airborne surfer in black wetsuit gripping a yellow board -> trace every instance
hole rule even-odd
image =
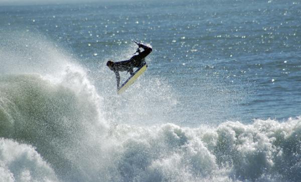
[[[114,73],[116,75],[117,90],[120,88],[119,87],[119,82],[120,82],[119,71],[128,71],[130,76],[133,76],[134,75],[133,68],[137,67],[139,69],[140,67],[142,67],[145,64],[144,58],[153,50],[151,47],[143,45],[142,43],[138,43],[136,41],[134,41],[134,42],[138,45],[137,51],[135,52],[135,53],[138,52],[138,54],[132,56],[128,60],[122,60],[122,61],[118,61],[118,62],[113,62],[112,60],[109,60],[106,63],[106,65],[112,71],[114,71]],[[143,48],[143,51],[140,51],[140,48]]]

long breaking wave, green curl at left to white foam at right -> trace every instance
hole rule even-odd
[[[300,118],[104,129],[98,105],[81,96],[89,94],[85,89],[35,74],[1,82],[11,85],[1,87],[2,137],[36,147],[62,181],[296,181],[300,175]]]

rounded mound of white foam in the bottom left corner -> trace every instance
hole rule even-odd
[[[35,148],[0,138],[0,181],[58,181],[54,170]]]

